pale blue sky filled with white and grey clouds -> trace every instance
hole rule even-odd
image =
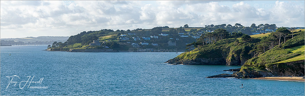
[[[304,27],[305,1],[0,1],[0,38],[240,23]]]

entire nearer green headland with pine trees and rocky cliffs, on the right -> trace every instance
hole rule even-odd
[[[192,43],[192,46],[197,46],[192,50],[193,53],[192,51],[181,53],[167,62],[242,65],[240,72],[214,77],[302,76],[304,75],[305,58],[304,35],[304,31],[299,30],[293,33],[292,39],[289,30],[279,28],[274,33],[256,36],[234,37],[230,35],[222,40],[215,37],[214,43],[203,42],[211,37],[202,36],[197,42]],[[215,36],[218,36],[217,33]],[[279,40],[281,40],[280,43]]]

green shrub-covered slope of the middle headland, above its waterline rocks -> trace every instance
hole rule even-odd
[[[235,42],[235,40],[236,38],[223,39],[215,44],[200,47],[200,51],[196,48],[193,53],[192,51],[181,53],[176,58],[180,60],[192,60],[195,58],[224,58],[228,60],[234,60],[235,57],[251,58],[248,56],[248,52],[253,44],[242,40]]]

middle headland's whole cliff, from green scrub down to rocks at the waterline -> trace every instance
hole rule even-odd
[[[236,43],[236,39],[227,39],[217,42],[216,46],[206,46],[192,52],[185,52],[168,60],[166,63],[177,64],[204,64],[204,65],[243,65],[252,58],[248,54],[253,45],[247,42]],[[235,41],[235,42],[234,42]],[[224,43],[225,42],[225,43]]]

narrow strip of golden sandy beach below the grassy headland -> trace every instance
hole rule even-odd
[[[253,79],[279,80],[279,81],[305,81],[302,77],[259,77]]]

